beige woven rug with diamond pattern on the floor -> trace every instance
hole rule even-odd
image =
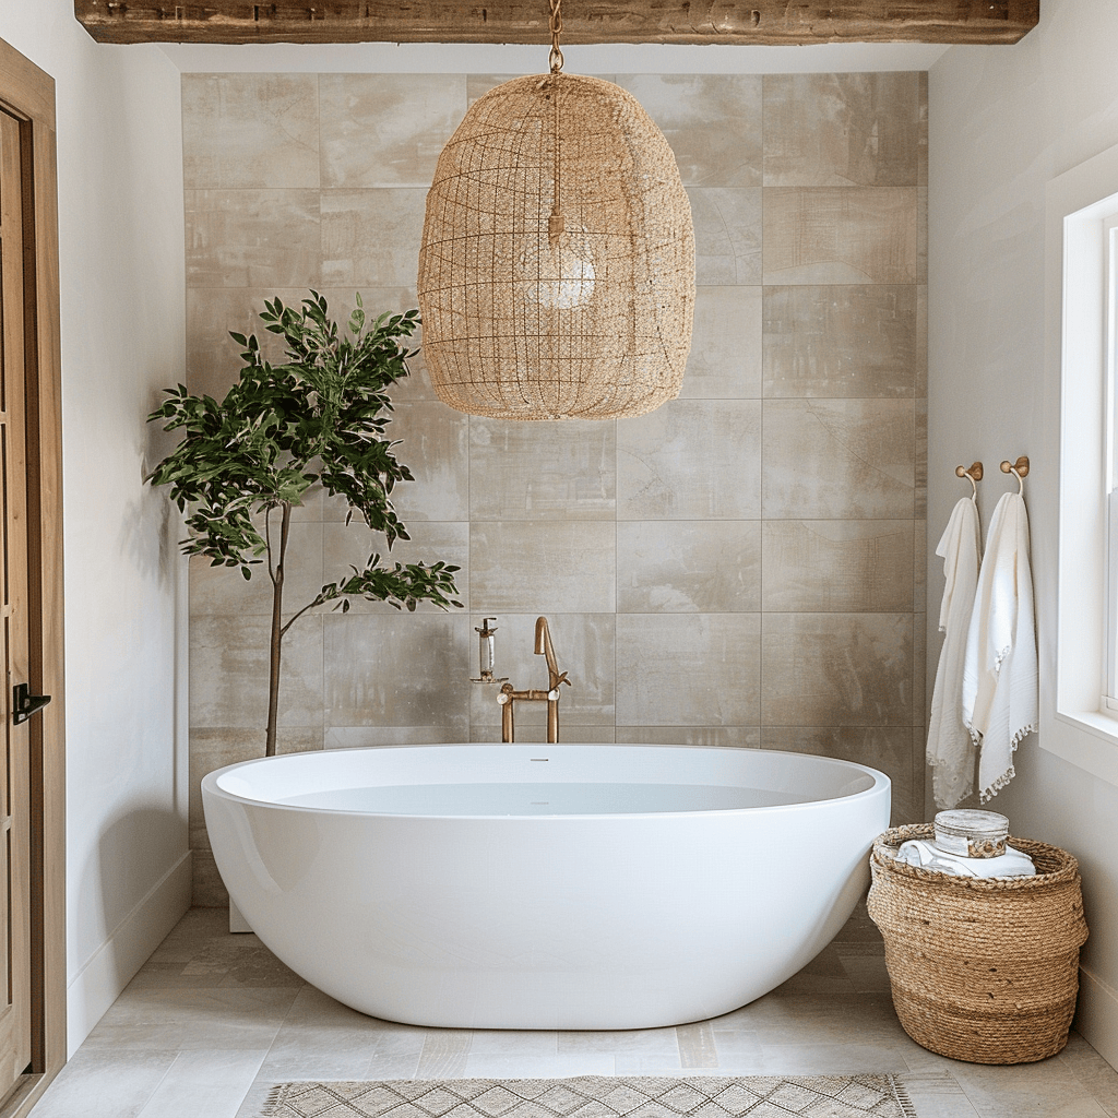
[[[917,1118],[892,1076],[280,1083],[262,1118]]]

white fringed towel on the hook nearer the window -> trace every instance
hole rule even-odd
[[[985,804],[1013,778],[1013,751],[1038,721],[1029,515],[1020,493],[997,502],[986,537],[963,665],[963,720],[982,750]]]

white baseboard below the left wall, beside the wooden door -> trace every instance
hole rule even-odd
[[[189,850],[121,921],[69,983],[66,989],[67,1059],[77,1051],[188,908]]]

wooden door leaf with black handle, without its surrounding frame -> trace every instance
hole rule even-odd
[[[0,110],[0,1099],[31,1062],[30,731],[12,719],[29,669],[26,278],[20,122]]]

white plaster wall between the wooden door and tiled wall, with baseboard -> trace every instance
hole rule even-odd
[[[183,568],[143,484],[183,378],[179,73],[69,0],[3,0],[0,37],[57,95],[73,1051],[189,903]]]

